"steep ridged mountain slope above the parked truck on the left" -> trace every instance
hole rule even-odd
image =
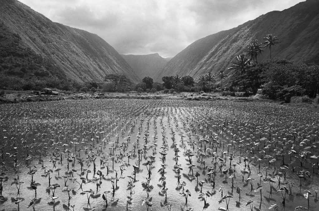
[[[105,40],[54,23],[16,0],[0,4],[0,72],[21,77],[103,81],[105,74],[140,78]]]

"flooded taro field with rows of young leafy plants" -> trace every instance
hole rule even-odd
[[[318,113],[112,99],[0,115],[0,210],[318,210]]]

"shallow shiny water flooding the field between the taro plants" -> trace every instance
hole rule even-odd
[[[71,189],[70,205],[75,205],[74,210],[102,210],[105,208],[105,202],[102,199],[102,194],[104,191],[110,191],[107,194],[108,207],[107,210],[147,210],[145,204],[142,205],[143,200],[147,199],[147,192],[142,186],[142,182],[146,182],[148,178],[148,172],[146,166],[142,165],[147,160],[151,160],[150,156],[153,154],[152,149],[148,149],[146,156],[143,156],[140,161],[140,171],[136,174],[136,180],[134,181],[135,187],[133,187],[134,194],[132,194],[131,204],[127,206],[127,196],[130,195],[130,190],[128,190],[127,185],[130,181],[128,176],[132,176],[134,172],[133,165],[136,164],[138,160],[137,149],[144,149],[143,144],[145,141],[145,133],[149,133],[148,145],[154,141],[152,136],[157,133],[158,146],[154,150],[155,162],[152,164],[150,185],[153,189],[149,192],[149,198],[152,197],[152,210],[162,210],[167,209],[165,203],[171,203],[171,210],[187,210],[187,208],[194,207],[194,210],[203,210],[204,201],[200,200],[200,187],[197,186],[197,178],[189,173],[189,161],[188,156],[184,154],[187,149],[193,151],[191,145],[191,140],[195,140],[197,145],[194,147],[194,153],[199,151],[204,152],[204,145],[198,142],[198,137],[205,137],[205,135],[211,136],[209,139],[217,139],[218,144],[217,155],[222,158],[222,152],[227,152],[227,144],[229,146],[229,151],[225,154],[226,165],[222,167],[227,169],[230,167],[230,162],[228,158],[233,154],[232,164],[236,164],[236,171],[232,174],[234,175],[234,186],[239,186],[241,190],[241,199],[239,201],[239,195],[236,193],[236,188],[231,188],[232,179],[228,178],[231,174],[228,172],[225,175],[219,172],[219,167],[214,166],[215,159],[212,155],[209,155],[206,150],[205,166],[214,166],[217,171],[215,177],[215,188],[211,186],[211,179],[208,178],[208,169],[204,169],[204,165],[197,161],[198,156],[192,158],[193,164],[196,166],[193,169],[194,175],[198,171],[200,176],[199,181],[206,181],[203,185],[202,192],[205,193],[209,191],[210,197],[207,198],[206,206],[207,210],[216,210],[219,207],[226,208],[226,200],[221,201],[221,192],[219,192],[220,186],[223,186],[223,195],[230,194],[234,198],[230,198],[229,210],[250,210],[249,205],[246,206],[248,200],[253,200],[253,210],[268,210],[270,204],[277,204],[279,207],[277,210],[293,210],[297,206],[308,207],[307,199],[304,198],[303,194],[306,193],[305,190],[308,189],[311,193],[315,194],[315,190],[318,190],[318,170],[315,169],[315,174],[313,173],[311,163],[316,163],[316,160],[309,158],[307,162],[303,164],[301,170],[309,171],[311,173],[310,178],[302,179],[302,186],[297,186],[300,183],[299,178],[296,176],[296,172],[300,169],[295,169],[292,172],[292,166],[300,166],[300,162],[297,158],[293,157],[290,161],[290,155],[288,151],[291,148],[290,144],[286,144],[283,149],[287,153],[284,156],[285,164],[288,166],[286,168],[286,181],[294,182],[295,186],[292,190],[292,195],[286,193],[286,203],[285,207],[282,204],[281,193],[277,193],[279,189],[278,182],[273,184],[272,193],[270,194],[269,182],[264,183],[266,171],[263,170],[264,167],[269,166],[267,170],[268,176],[271,176],[273,180],[278,181],[276,176],[273,176],[274,167],[273,164],[268,164],[267,159],[263,159],[260,163],[260,171],[263,174],[261,179],[262,188],[262,200],[260,199],[260,192],[254,192],[256,187],[259,185],[258,172],[258,161],[254,161],[254,156],[261,157],[259,151],[263,148],[263,142],[259,145],[259,149],[255,149],[254,153],[247,152],[251,145],[242,147],[242,151],[237,147],[240,143],[242,144],[250,142],[259,142],[258,140],[265,137],[267,140],[272,140],[276,137],[276,140],[282,141],[283,138],[287,138],[287,141],[294,138],[289,136],[289,131],[296,131],[301,134],[312,134],[310,136],[310,142],[307,142],[303,146],[314,145],[318,141],[317,130],[317,119],[318,113],[307,114],[302,110],[295,110],[286,106],[267,104],[267,103],[246,103],[246,102],[189,102],[189,101],[168,101],[168,100],[82,100],[82,101],[64,101],[64,102],[42,102],[42,103],[25,103],[25,104],[15,104],[15,105],[0,105],[1,109],[1,124],[2,130],[0,131],[0,137],[6,137],[1,139],[1,144],[4,145],[3,152],[10,153],[10,155],[18,152],[16,156],[17,164],[20,164],[19,171],[19,181],[24,182],[20,186],[20,197],[24,200],[20,202],[21,210],[32,210],[32,207],[26,208],[30,201],[35,197],[35,192],[31,186],[31,175],[27,174],[30,170],[27,166],[31,166],[33,169],[35,166],[38,170],[34,176],[33,180],[36,183],[40,183],[41,186],[37,186],[37,199],[35,204],[35,210],[53,210],[53,206],[48,204],[52,201],[52,192],[47,190],[48,187],[48,175],[45,175],[42,166],[48,166],[53,172],[50,173],[52,177],[50,184],[59,184],[60,187],[56,189],[55,196],[59,197],[56,201],[60,201],[56,205],[56,210],[68,210],[68,193],[62,192],[64,187],[64,178],[62,175],[69,174],[67,172],[67,160],[66,156],[68,152],[64,152],[63,161],[56,162],[56,168],[61,168],[58,177],[58,172],[54,171],[56,168],[51,162],[51,158],[55,157],[53,152],[63,152],[66,143],[67,149],[71,152],[75,152],[75,145],[71,142],[84,142],[83,147],[81,144],[77,145],[77,150],[80,150],[80,156],[77,156],[75,163],[70,163],[70,169],[75,168],[77,172],[73,173],[74,177],[77,177],[78,181],[80,177],[85,177],[85,175],[80,174],[81,167],[77,164],[79,157],[83,157],[86,160],[88,155],[95,155],[96,159],[96,171],[101,170],[104,174],[104,179],[102,178],[101,185],[96,191],[96,185],[94,182],[90,181],[93,178],[93,162],[88,160],[85,163],[83,169],[91,170],[88,174],[88,179],[86,184],[83,184],[83,191],[92,189],[94,194],[90,198],[90,205],[87,204],[86,194],[80,194],[82,192],[79,189],[78,183],[72,183],[72,181],[67,181],[67,186]],[[291,115],[291,114],[294,115]],[[224,123],[226,122],[226,123]],[[314,124],[313,124],[314,123]],[[149,125],[149,126],[148,126]],[[224,126],[223,126],[224,125]],[[147,130],[148,128],[148,130]],[[208,129],[207,129],[208,128]],[[252,129],[254,128],[254,129]],[[258,130],[259,133],[256,132]],[[99,132],[98,132],[99,131]],[[101,133],[103,131],[103,133]],[[140,132],[139,132],[140,131]],[[220,133],[220,131],[222,131]],[[302,132],[303,131],[303,132]],[[127,156],[120,156],[120,151],[118,150],[123,142],[128,139],[129,132],[131,134],[130,141],[128,142],[128,148],[121,151],[126,154],[132,151],[132,157],[128,162]],[[185,190],[189,189],[191,196],[188,197],[188,203],[185,205],[185,198],[180,194],[182,186],[178,186],[177,177],[174,169],[174,147],[173,145],[173,133],[175,142],[177,143],[177,148],[180,149],[178,152],[179,160],[178,164],[181,164],[181,182],[186,182]],[[274,135],[277,133],[277,135]],[[93,135],[94,134],[94,135]],[[137,136],[138,134],[139,137]],[[269,137],[271,134],[271,138]],[[108,149],[111,142],[117,140],[116,135],[118,135],[118,146],[115,151],[115,163],[114,168],[112,168],[112,160],[108,157],[110,156],[110,150]],[[182,135],[183,142],[182,144]],[[236,138],[233,135],[238,135]],[[100,136],[97,138],[96,136]],[[165,136],[165,138],[163,138]],[[293,144],[297,146],[294,148],[299,153],[299,141],[297,141],[297,135],[295,137]],[[104,142],[105,141],[105,145]],[[133,143],[138,140],[138,145],[136,152],[134,153]],[[163,142],[163,140],[165,142]],[[236,141],[235,141],[236,140]],[[299,138],[300,140],[300,138]],[[313,141],[312,141],[313,140]],[[25,141],[25,142],[24,142]],[[234,142],[232,142],[234,141]],[[24,142],[24,143],[22,143]],[[90,145],[90,143],[92,145]],[[224,144],[223,144],[224,143]],[[100,145],[101,144],[101,145]],[[166,187],[167,189],[167,201],[165,201],[165,196],[160,195],[162,187],[159,185],[161,182],[159,178],[161,174],[158,170],[161,168],[162,160],[159,152],[162,150],[160,147],[162,145],[167,145],[168,150],[166,155],[165,164],[165,177],[166,177]],[[100,145],[100,147],[99,147]],[[23,147],[24,146],[24,147]],[[28,147],[26,147],[28,146]],[[17,149],[14,149],[17,147]],[[45,147],[47,149],[45,149]],[[88,149],[86,150],[85,147]],[[90,148],[92,151],[90,152]],[[60,149],[59,151],[56,148]],[[213,148],[209,143],[206,148],[210,148],[211,154],[215,152],[216,149]],[[301,148],[301,149],[303,149]],[[99,152],[98,152],[99,149]],[[269,149],[265,149],[266,154],[273,156],[275,144],[271,144],[270,152]],[[278,146],[277,146],[278,149]],[[31,152],[30,152],[31,151]],[[41,159],[40,159],[41,151]],[[44,151],[46,151],[44,153]],[[103,154],[105,152],[104,162],[109,164],[110,173],[107,175],[106,168],[100,165],[100,159],[103,159]],[[302,150],[301,150],[302,151]],[[310,150],[314,155],[318,155],[318,149],[313,148]],[[27,153],[28,152],[28,153]],[[296,156],[298,156],[298,153]],[[69,153],[71,154],[71,153]],[[17,188],[15,185],[11,185],[14,178],[17,178],[17,168],[14,168],[14,157],[8,155],[5,159],[5,165],[0,172],[5,172],[8,176],[7,180],[3,181],[3,193],[2,195],[6,197],[5,201],[2,201],[1,210],[17,210],[18,205],[11,200],[11,197],[17,196]],[[118,155],[118,159],[116,157]],[[224,156],[225,156],[224,155]],[[26,157],[29,156],[30,160],[26,161]],[[239,157],[240,158],[239,158]],[[251,187],[248,181],[248,174],[244,175],[244,182],[242,182],[241,171],[245,168],[245,163],[243,162],[245,157],[248,157],[249,166],[251,174],[250,178],[256,180],[253,181],[253,191],[251,192]],[[264,155],[263,155],[264,156]],[[58,156],[59,157],[59,156]],[[276,156],[274,156],[276,158]],[[42,161],[43,159],[43,164]],[[224,159],[224,157],[223,157]],[[218,160],[218,158],[217,158]],[[30,163],[29,163],[30,162]],[[120,166],[124,165],[124,170],[120,171]],[[248,163],[247,163],[248,164]],[[282,158],[277,157],[275,161],[276,170],[284,172],[284,169],[280,170],[282,166]],[[292,166],[291,166],[292,165]],[[284,168],[284,167],[283,167]],[[234,166],[232,166],[234,169]],[[246,171],[248,168],[246,167]],[[114,196],[112,195],[112,183],[110,179],[115,177],[116,172],[118,174],[117,187],[115,188]],[[97,175],[94,175],[98,177]],[[134,177],[134,176],[133,176]],[[72,178],[72,177],[70,177]],[[99,178],[99,177],[98,177]],[[280,186],[284,186],[284,178],[281,177]],[[78,190],[79,189],[79,190]],[[236,202],[237,201],[237,202]],[[315,197],[310,197],[309,209],[316,210],[317,200]],[[70,207],[72,210],[72,208]]]

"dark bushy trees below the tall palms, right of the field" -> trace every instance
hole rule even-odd
[[[319,89],[319,66],[285,59],[266,60],[230,78],[230,90],[261,94],[269,99],[290,101],[292,96],[315,98]]]

